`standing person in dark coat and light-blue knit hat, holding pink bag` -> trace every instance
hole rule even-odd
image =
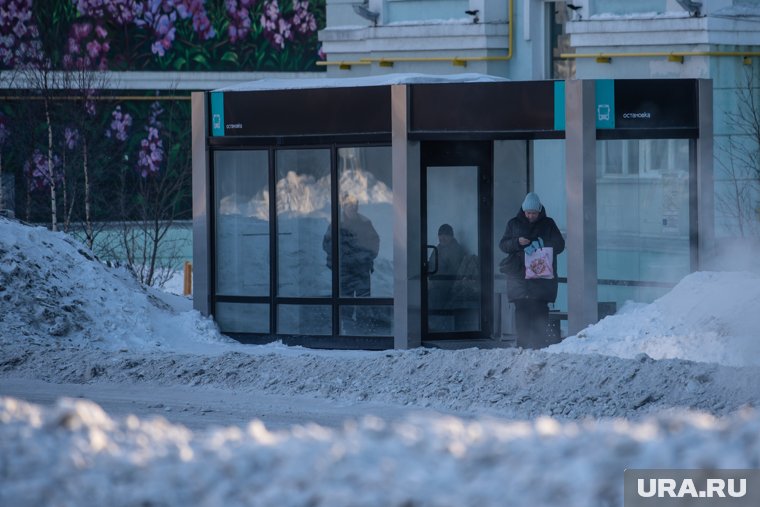
[[[554,249],[551,279],[525,279],[525,253],[543,246]],[[557,299],[557,255],[565,239],[557,224],[546,215],[541,199],[528,193],[517,215],[507,223],[499,248],[507,253],[502,271],[507,275],[507,297],[515,305],[517,346],[538,349],[548,345],[549,303]]]

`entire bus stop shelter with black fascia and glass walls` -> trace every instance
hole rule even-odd
[[[508,344],[498,242],[536,191],[566,238],[553,313],[575,334],[709,254],[711,101],[709,80],[469,74],[194,93],[194,306],[248,343]],[[349,223],[370,238],[364,278]],[[446,269],[444,224],[461,247]]]

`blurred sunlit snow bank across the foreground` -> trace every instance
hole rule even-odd
[[[760,465],[760,419],[559,423],[411,416],[330,430],[193,433],[87,401],[0,398],[0,503],[14,506],[622,505],[626,468]],[[600,445],[601,444],[601,445]]]

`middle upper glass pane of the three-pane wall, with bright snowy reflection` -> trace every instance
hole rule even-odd
[[[329,297],[322,239],[330,219],[330,151],[279,150],[275,165],[278,295]]]

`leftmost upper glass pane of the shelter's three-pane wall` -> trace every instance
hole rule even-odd
[[[216,291],[269,295],[269,191],[266,151],[214,153]]]

